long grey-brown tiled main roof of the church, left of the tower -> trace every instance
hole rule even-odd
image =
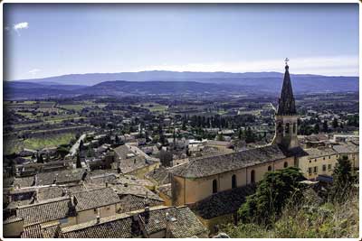
[[[283,153],[278,145],[272,144],[237,153],[227,153],[195,159],[180,165],[173,170],[172,173],[185,178],[202,178],[264,162],[281,160],[286,157],[287,155]]]

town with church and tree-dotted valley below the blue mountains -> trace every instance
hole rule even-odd
[[[268,171],[328,185],[347,156],[357,172],[358,94],[298,96],[291,81],[286,65],[277,101],[5,102],[4,236],[223,236]]]

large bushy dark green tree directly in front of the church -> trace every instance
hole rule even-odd
[[[286,203],[302,198],[300,181],[303,180],[296,167],[266,172],[256,192],[238,210],[239,217],[243,222],[270,224],[281,215]]]

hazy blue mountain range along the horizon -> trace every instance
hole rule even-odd
[[[5,81],[5,98],[182,93],[279,93],[279,72],[141,71],[71,74],[43,79]],[[358,91],[358,77],[291,75],[295,93]]]

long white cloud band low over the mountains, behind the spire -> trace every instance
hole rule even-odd
[[[332,56],[289,58],[290,71],[293,74],[320,74],[329,76],[357,76],[358,56]],[[139,69],[141,70],[141,69]],[[160,64],[146,66],[142,70],[170,70],[170,71],[225,71],[225,72],[259,72],[259,71],[284,71],[284,58],[280,60],[255,60],[255,61],[218,61],[195,62],[186,64]]]

